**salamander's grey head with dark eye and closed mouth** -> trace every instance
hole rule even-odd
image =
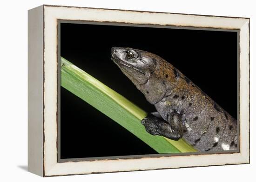
[[[111,59],[137,88],[148,82],[156,67],[156,60],[151,53],[122,47],[112,47]]]

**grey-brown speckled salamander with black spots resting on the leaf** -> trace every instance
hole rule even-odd
[[[113,47],[111,59],[157,112],[141,120],[145,130],[184,138],[199,151],[238,149],[237,122],[172,64],[153,53]]]

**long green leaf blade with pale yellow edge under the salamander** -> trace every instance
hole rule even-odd
[[[113,119],[158,153],[196,151],[184,140],[173,141],[148,134],[140,123],[147,116],[145,111],[62,57],[61,86]]]

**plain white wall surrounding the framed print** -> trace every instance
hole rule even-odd
[[[255,36],[253,0],[6,0],[0,5],[0,181],[252,181],[255,176]],[[27,10],[42,4],[250,18],[251,164],[49,177],[27,170]],[[255,178],[255,177],[254,177]],[[5,179],[5,180],[4,180]],[[255,180],[255,179],[254,179]]]

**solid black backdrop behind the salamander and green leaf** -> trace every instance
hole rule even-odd
[[[155,107],[110,60],[113,46],[161,56],[237,118],[237,32],[61,23],[61,56],[152,112]],[[155,153],[61,87],[61,159]]]

